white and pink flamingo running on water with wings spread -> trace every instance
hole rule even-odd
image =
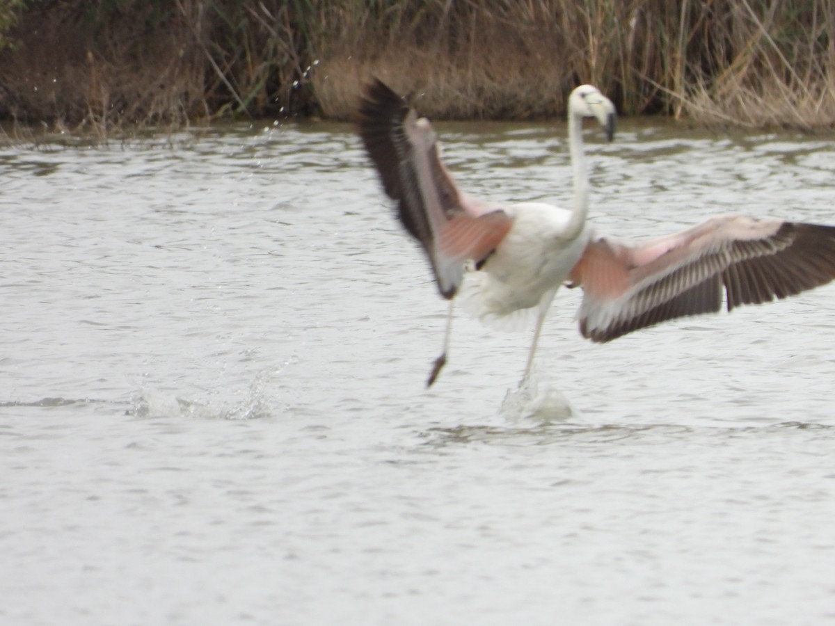
[[[357,121],[362,143],[397,215],[450,300],[443,352],[427,386],[446,363],[453,298],[488,324],[536,317],[522,381],[561,285],[579,286],[579,331],[605,342],[662,321],[797,295],[835,278],[835,227],[743,215],[717,215],[679,233],[647,241],[598,235],[586,222],[589,179],[584,118],[612,139],[615,106],[591,85],[569,96],[571,210],[551,204],[497,204],[463,194],[444,166],[428,119],[375,79],[364,89]]]

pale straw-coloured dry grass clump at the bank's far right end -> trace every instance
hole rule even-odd
[[[723,16],[715,61],[676,93],[704,122],[815,128],[835,124],[835,7],[753,3]]]

